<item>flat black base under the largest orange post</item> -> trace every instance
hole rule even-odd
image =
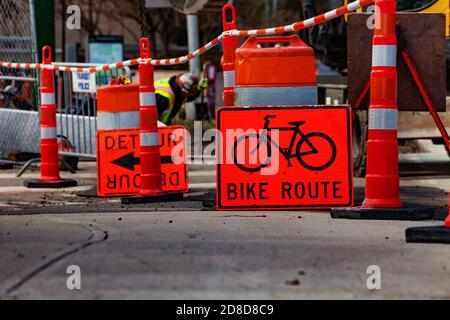
[[[331,217],[334,219],[418,221],[433,219],[434,208],[335,208],[331,209]]]

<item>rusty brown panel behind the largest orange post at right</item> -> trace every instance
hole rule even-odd
[[[368,14],[351,14],[348,19],[349,102],[355,103],[370,78],[373,30]],[[438,111],[446,110],[445,15],[399,13],[399,41],[406,47]],[[428,111],[408,68],[398,54],[398,105],[400,111]],[[369,95],[362,108],[369,105]]]

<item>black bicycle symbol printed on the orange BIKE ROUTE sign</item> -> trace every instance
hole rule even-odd
[[[276,115],[268,115],[264,118],[265,124],[262,130],[262,134],[257,133],[248,133],[245,134],[234,143],[232,152],[233,152],[233,161],[234,164],[245,172],[259,172],[263,168],[269,166],[272,161],[272,148],[275,147],[279,150],[280,154],[288,161],[288,166],[292,167],[291,159],[297,158],[300,165],[304,168],[311,171],[322,171],[329,168],[334,161],[336,160],[336,144],[334,141],[324,133],[321,132],[311,132],[308,134],[303,133],[300,129],[306,121],[294,121],[289,122],[290,127],[280,127],[280,128],[271,128],[270,121],[271,119],[276,118]],[[272,131],[292,131],[291,142],[289,144],[289,148],[282,148],[274,139],[272,139]],[[295,141],[297,137],[300,137],[300,141],[297,143],[297,147],[294,151]],[[244,146],[248,142],[248,146],[256,147],[253,150],[248,150],[248,148],[238,148],[239,145]],[[243,144],[242,144],[243,143]],[[305,146],[307,150],[304,150]],[[261,151],[260,148],[266,148],[265,155],[267,159],[262,161],[258,165],[250,166],[246,163],[241,163],[239,159],[238,152],[245,151],[247,154],[245,155],[253,155],[255,152]],[[244,154],[240,154],[241,156]],[[314,157],[311,157],[315,155]],[[320,164],[314,163],[317,161],[317,158],[321,157]],[[325,158],[324,158],[325,157]],[[246,158],[244,158],[246,159]]]

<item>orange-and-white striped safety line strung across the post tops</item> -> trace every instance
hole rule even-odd
[[[287,32],[296,32],[302,29],[306,29],[318,24],[325,23],[329,20],[341,17],[350,12],[358,10],[360,8],[366,7],[370,4],[374,3],[374,0],[358,0],[352,3],[349,3],[346,6],[339,7],[337,9],[331,10],[314,18],[310,18],[304,21],[295,22],[293,24],[282,26],[282,27],[274,27],[267,29],[254,29],[254,30],[231,30],[223,32],[218,37],[214,38],[212,41],[208,42],[203,47],[195,50],[194,52],[189,53],[186,56],[172,58],[172,59],[132,59],[122,62],[117,62],[108,65],[102,65],[91,68],[77,68],[77,67],[61,67],[53,64],[44,65],[40,63],[14,63],[14,62],[2,62],[0,61],[0,68],[11,68],[11,69],[49,69],[54,71],[63,71],[63,72],[100,72],[107,71],[113,69],[121,69],[127,66],[134,66],[138,64],[148,64],[151,63],[155,66],[161,65],[177,65],[184,64],[189,60],[205,53],[206,51],[217,46],[223,39],[224,35],[231,35],[235,37],[248,37],[248,36],[264,36],[264,35],[274,35],[274,34],[283,34]]]

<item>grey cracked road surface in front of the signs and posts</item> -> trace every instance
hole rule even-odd
[[[446,154],[401,162],[402,198],[435,206],[443,219]],[[77,175],[81,187],[65,191],[25,190],[14,172],[0,172],[1,299],[450,299],[450,246],[405,242],[406,228],[442,221],[216,212],[202,201],[213,196],[211,166],[192,168],[185,201],[138,207],[77,197],[95,181],[90,163]],[[360,201],[363,180],[356,186]],[[71,266],[81,290],[68,289],[78,275]],[[380,290],[367,286],[373,266]]]

